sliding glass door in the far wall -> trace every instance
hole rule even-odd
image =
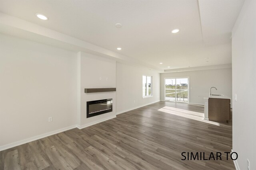
[[[188,103],[189,79],[188,78],[165,78],[165,100]]]

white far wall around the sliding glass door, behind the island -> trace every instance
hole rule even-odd
[[[198,70],[184,72],[161,73],[161,100],[164,100],[164,78],[189,77],[190,103],[204,104],[202,97],[208,96],[211,87],[213,94],[223,94],[232,97],[232,69]],[[231,102],[232,106],[232,102]]]

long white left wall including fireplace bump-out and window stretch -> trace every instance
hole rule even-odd
[[[0,150],[160,100],[157,71],[10,35],[0,43]],[[153,76],[153,97],[142,99],[143,74]],[[84,93],[112,87],[117,92]],[[103,98],[113,98],[113,111],[87,119],[86,102]]]

